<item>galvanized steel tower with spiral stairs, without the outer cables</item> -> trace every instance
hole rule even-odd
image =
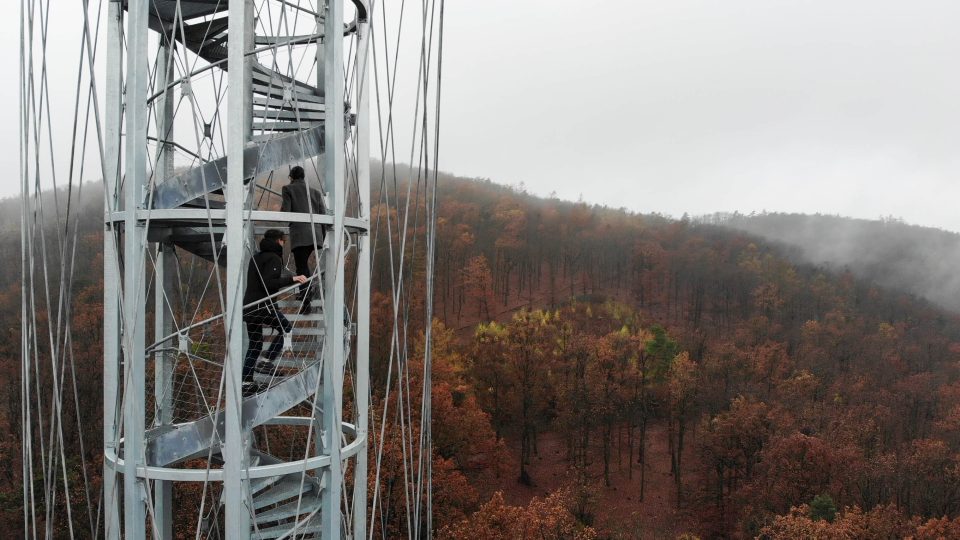
[[[200,493],[204,537],[366,537],[368,11],[108,4],[107,538],[172,537],[181,489]],[[293,165],[328,213],[278,211]],[[291,222],[317,225],[323,244],[313,311],[300,314],[292,287],[276,295],[293,330],[251,391],[248,262],[264,230]]]

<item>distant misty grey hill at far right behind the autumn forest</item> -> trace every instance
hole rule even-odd
[[[960,234],[889,218],[714,214],[725,225],[793,248],[795,260],[854,275],[960,311]]]

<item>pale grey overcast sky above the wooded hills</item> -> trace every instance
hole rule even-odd
[[[447,0],[441,168],[674,216],[960,231],[958,27],[947,0]],[[13,114],[0,130],[16,171]]]

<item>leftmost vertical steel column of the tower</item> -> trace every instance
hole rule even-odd
[[[106,222],[116,209],[120,179],[120,122],[123,110],[120,80],[123,65],[123,9],[119,0],[107,4],[107,77],[104,160],[103,232],[103,450],[118,452],[120,431],[117,424],[117,380],[120,371],[120,298],[119,264],[117,264],[116,228]],[[104,460],[103,527],[106,540],[120,538],[120,494],[117,471]]]

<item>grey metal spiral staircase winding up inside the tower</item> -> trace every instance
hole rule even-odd
[[[152,0],[149,25],[162,36],[175,36],[178,47],[186,47],[205,61],[226,69],[227,5],[226,0]],[[316,39],[317,36],[289,38],[300,42]],[[258,46],[278,42],[277,38],[256,38]],[[319,156],[324,145],[322,92],[272,70],[258,62],[256,56],[253,56],[252,64],[252,128],[255,135],[243,156],[245,183],[253,181],[261,171],[285,168],[303,163],[305,158]],[[190,90],[181,88],[181,91]],[[152,192],[147,194],[148,207],[152,211],[222,209],[226,181],[226,157],[203,162],[159,179]],[[172,244],[225,265],[223,221],[204,219],[197,212],[178,216],[169,212],[165,219],[151,223],[148,239]],[[242,422],[246,432],[270,424],[298,405],[313,404],[315,394],[322,388],[320,351],[325,337],[324,315],[322,305],[315,302],[310,315],[298,314],[299,303],[280,302],[281,309],[293,323],[293,331],[288,337],[290,343],[276,362],[276,372],[258,392],[243,399]],[[345,348],[348,348],[349,323],[345,335]],[[306,356],[312,358],[305,359]],[[222,361],[221,358],[221,369]],[[219,444],[224,440],[225,414],[220,407],[215,410],[217,412],[198,415],[188,421],[148,429],[145,434],[147,464],[174,467],[196,458],[207,458],[210,462],[220,459]],[[319,413],[315,408],[313,410],[316,419]],[[332,439],[339,443],[339,437]],[[280,458],[256,448],[255,443],[252,446],[249,467],[283,463]],[[320,476],[312,473],[305,467],[298,472],[251,479],[248,504],[251,508],[251,538],[279,538],[291,533],[298,538],[309,538],[319,534],[324,486]],[[211,521],[208,530],[215,531],[216,524]]]

